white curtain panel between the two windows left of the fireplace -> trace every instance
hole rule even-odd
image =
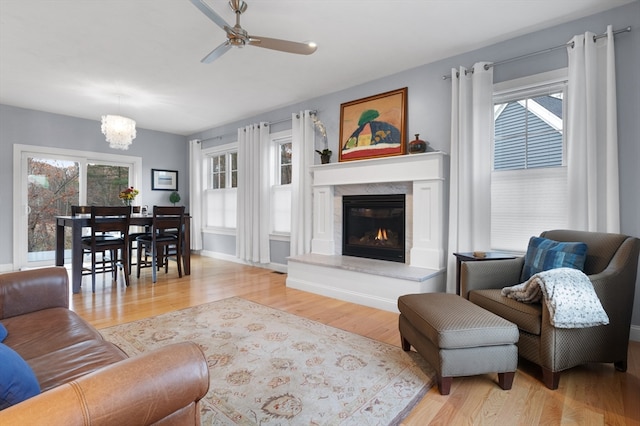
[[[238,129],[236,256],[249,263],[269,263],[270,259],[268,222],[266,227],[263,226],[260,214],[261,211],[269,211],[269,179],[262,178],[265,173],[268,176],[268,135],[266,123]],[[261,205],[264,202],[267,204]]]

